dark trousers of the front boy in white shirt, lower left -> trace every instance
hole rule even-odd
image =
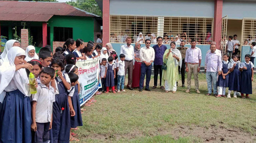
[[[33,132],[33,141],[32,143],[42,143],[49,141],[50,138],[50,122],[47,123],[37,123],[36,122],[36,132]]]

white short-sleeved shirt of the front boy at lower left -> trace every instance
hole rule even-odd
[[[36,122],[47,123],[51,122],[53,102],[55,102],[54,88],[49,85],[46,87],[40,84],[37,87],[37,93],[33,96],[33,101],[36,101]]]

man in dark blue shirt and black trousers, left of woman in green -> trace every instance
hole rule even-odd
[[[165,45],[162,45],[163,38],[157,37],[156,39],[157,45],[153,46],[153,49],[155,51],[155,60],[154,60],[154,86],[152,89],[156,89],[157,86],[157,77],[158,73],[160,73],[160,88],[164,89],[163,86],[161,86],[162,83],[162,64],[163,64],[163,54],[165,53],[165,50],[167,50],[167,47]]]

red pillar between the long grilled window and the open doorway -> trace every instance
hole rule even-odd
[[[213,41],[216,42],[216,48],[217,49],[220,49],[220,42],[221,42],[222,5],[223,5],[223,0],[215,0],[214,24],[213,24]]]

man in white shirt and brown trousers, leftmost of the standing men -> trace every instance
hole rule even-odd
[[[126,44],[121,46],[120,54],[125,55],[125,75],[128,70],[128,83],[127,83],[127,88],[129,90],[133,90],[131,87],[132,85],[132,70],[134,69],[134,49],[133,46],[131,45],[132,39],[131,37],[126,38]]]

